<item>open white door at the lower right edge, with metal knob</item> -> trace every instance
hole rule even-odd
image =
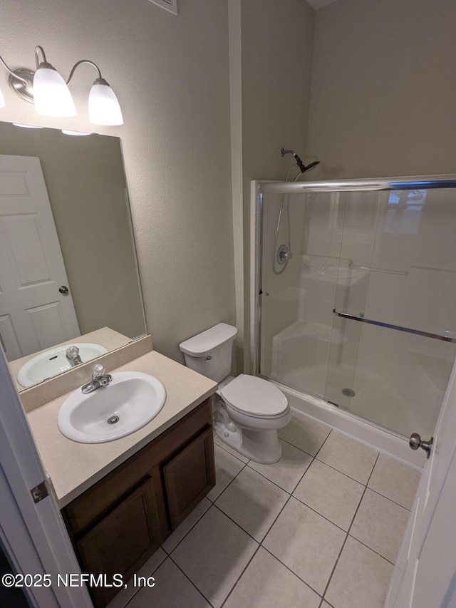
[[[400,547],[386,608],[455,605],[448,603],[456,574],[455,505],[456,364]]]

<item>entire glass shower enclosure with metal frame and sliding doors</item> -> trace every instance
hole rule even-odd
[[[456,176],[257,185],[257,373],[431,436],[456,356]]]

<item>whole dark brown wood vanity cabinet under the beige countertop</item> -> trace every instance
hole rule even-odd
[[[207,399],[63,509],[82,572],[127,582],[214,484]],[[89,587],[97,608],[119,590]]]

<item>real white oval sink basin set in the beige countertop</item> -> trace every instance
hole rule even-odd
[[[165,405],[165,386],[154,376],[130,371],[112,376],[108,386],[88,394],[78,388],[63,401],[57,424],[68,439],[79,443],[120,439],[149,423]]]

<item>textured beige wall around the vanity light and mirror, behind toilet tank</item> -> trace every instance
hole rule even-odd
[[[147,326],[155,348],[234,321],[226,0],[180,0],[179,15],[147,0],[0,0],[1,55],[33,68],[41,44],[68,76],[78,59],[100,65],[123,108],[122,140]],[[95,73],[71,83],[76,118],[45,118],[16,101],[0,68],[0,119],[92,130],[86,98]]]

